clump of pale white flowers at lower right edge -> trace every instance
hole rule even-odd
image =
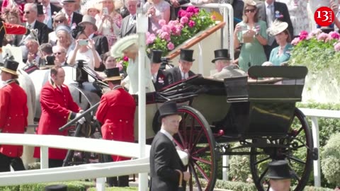
[[[333,134],[321,153],[321,168],[329,183],[340,185],[340,133]]]

